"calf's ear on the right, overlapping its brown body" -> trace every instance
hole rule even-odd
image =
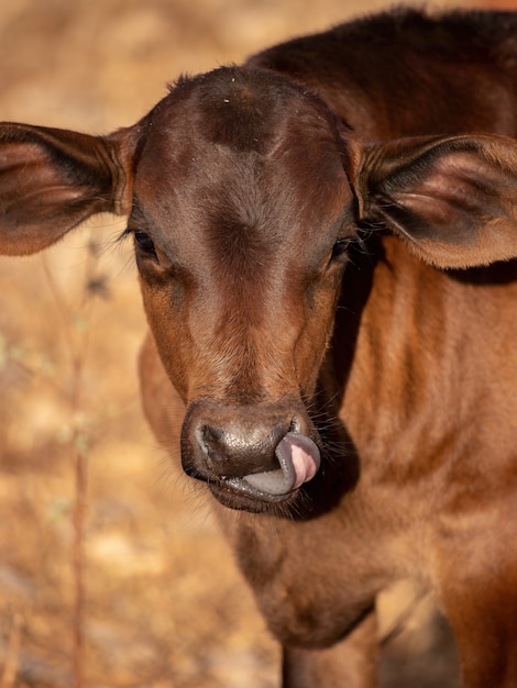
[[[404,138],[363,152],[361,219],[383,222],[442,268],[517,256],[517,141],[495,135]]]

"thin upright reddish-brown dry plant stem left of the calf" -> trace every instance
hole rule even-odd
[[[81,391],[82,374],[88,347],[88,337],[74,332],[72,322],[73,313],[57,286],[53,273],[48,267],[45,256],[42,257],[43,269],[48,287],[53,295],[57,310],[64,322],[64,331],[72,363],[72,389],[69,397],[73,432],[70,439],[72,459],[75,470],[75,499],[73,513],[74,545],[74,610],[73,610],[73,688],[85,687],[85,643],[84,643],[84,617],[85,617],[85,519],[86,495],[88,482],[88,456],[85,445],[85,432],[81,428]],[[86,306],[86,303],[84,304]]]

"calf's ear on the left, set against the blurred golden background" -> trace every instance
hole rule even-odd
[[[35,253],[94,214],[127,213],[129,132],[0,124],[0,254]]]

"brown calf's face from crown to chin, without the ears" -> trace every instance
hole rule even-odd
[[[232,506],[283,501],[319,465],[306,404],[355,231],[337,121],[280,79],[223,70],[152,122],[129,228],[188,407],[184,467]]]

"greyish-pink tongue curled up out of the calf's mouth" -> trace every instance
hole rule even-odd
[[[243,478],[252,487],[268,495],[287,495],[315,477],[319,465],[319,450],[312,440],[288,432],[275,451],[279,468],[256,473]]]

